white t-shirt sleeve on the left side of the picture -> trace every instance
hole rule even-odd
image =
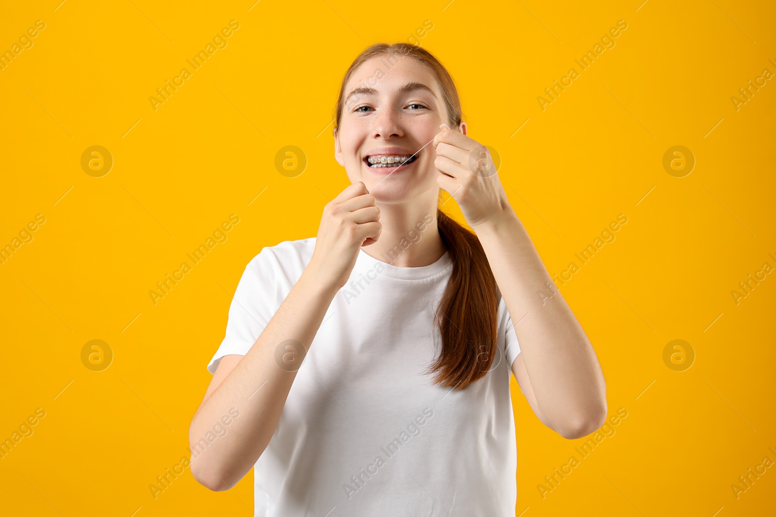
[[[229,307],[226,334],[207,365],[210,373],[216,372],[223,356],[248,353],[277,311],[273,261],[275,256],[264,248],[245,266]]]

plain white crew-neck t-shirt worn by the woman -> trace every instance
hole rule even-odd
[[[310,262],[315,240],[265,247],[248,263],[210,373],[222,356],[248,352]],[[486,376],[457,391],[422,375],[438,354],[432,331],[441,344],[433,320],[451,272],[449,252],[408,268],[359,249],[255,463],[255,515],[514,517],[509,381],[520,348],[504,299]]]

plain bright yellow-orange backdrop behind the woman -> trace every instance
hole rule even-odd
[[[314,236],[347,186],[331,120],[348,64],[414,35],[456,80],[470,136],[501,155],[551,274],[628,217],[561,289],[598,353],[610,415],[628,416],[542,498],[584,440],[543,426],[513,380],[516,515],[772,515],[773,468],[738,498],[731,489],[776,461],[776,279],[738,304],[731,294],[776,267],[776,84],[731,101],[776,73],[772,2],[252,3],[0,6],[0,50],[45,23],[0,71],[0,245],[45,217],[0,265],[0,439],[45,411],[0,459],[5,512],[251,515],[252,474],[220,493],[188,470],[155,499],[148,487],[188,456],[244,266]],[[154,110],[148,98],[232,19],[227,46]],[[537,97],[621,19],[615,47],[542,110]],[[113,157],[99,178],[81,168],[94,145]],[[293,178],[275,168],[286,145],[307,158]],[[675,145],[695,157],[681,178],[663,168]],[[462,220],[455,202],[445,210]],[[227,241],[154,304],[148,291],[232,213]],[[113,351],[106,370],[81,362],[93,339]],[[688,370],[663,361],[674,339],[695,352]]]

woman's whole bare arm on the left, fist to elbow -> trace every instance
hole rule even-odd
[[[327,203],[315,250],[302,278],[294,284],[248,352],[241,355],[231,350],[221,358],[189,427],[190,467],[199,483],[210,490],[232,488],[265,452],[278,429],[300,364],[286,362],[288,354],[280,358],[278,352],[284,346],[289,352],[295,349],[301,354],[298,358],[301,360],[313,346],[332,300],[352,275],[359,248],[379,238],[382,231],[379,217],[375,196],[362,182],[348,186]],[[271,279],[262,277],[261,280],[271,285]],[[254,295],[244,293],[244,296]],[[233,304],[240,305],[237,295]],[[246,400],[251,392],[254,394]],[[233,415],[232,409],[239,411],[240,418],[233,420],[227,435],[208,445],[203,436],[212,434],[213,422],[221,422],[227,411]],[[197,449],[200,450],[195,455]]]

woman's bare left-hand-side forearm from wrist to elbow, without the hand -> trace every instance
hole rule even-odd
[[[304,351],[310,349],[336,292],[305,270],[255,344],[200,406],[189,429],[192,451],[230,408],[240,412],[226,435],[209,443],[196,458],[192,452],[192,474],[200,483],[213,490],[231,488],[264,452],[296,378],[296,368]],[[293,358],[296,367],[284,369],[275,359],[275,350],[285,346],[282,342],[286,340],[299,342],[304,349]],[[282,353],[294,352],[283,349]]]

